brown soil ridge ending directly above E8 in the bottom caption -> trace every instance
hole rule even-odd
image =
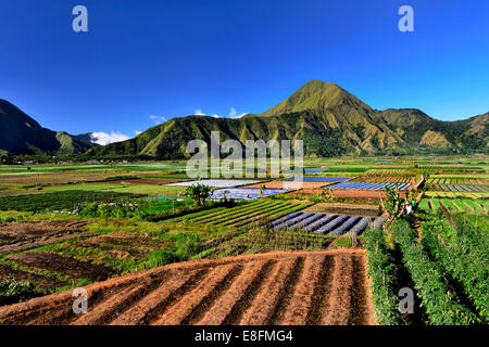
[[[263,282],[261,291],[254,297],[250,308],[242,314],[240,325],[266,324],[274,313],[287,278],[293,271],[298,258],[286,259],[277,264]]]

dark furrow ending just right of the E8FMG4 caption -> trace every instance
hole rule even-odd
[[[314,287],[314,294],[311,299],[311,307],[305,319],[306,325],[318,325],[323,312],[327,307],[327,297],[330,292],[329,283],[333,280],[333,256],[326,255],[321,264],[321,272],[317,285]]]

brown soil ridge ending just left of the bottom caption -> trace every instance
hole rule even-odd
[[[176,301],[153,324],[155,325],[179,325],[206,297],[222,285],[229,273],[236,272],[236,265],[220,266],[209,272],[192,291],[188,292],[180,300]],[[233,275],[231,275],[233,277]]]

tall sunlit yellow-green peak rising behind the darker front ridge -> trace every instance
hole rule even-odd
[[[355,95],[350,94],[336,83],[312,79],[299,88],[289,98],[259,116],[271,117],[284,113],[301,112],[306,110],[321,111],[336,105],[349,104],[369,108]]]

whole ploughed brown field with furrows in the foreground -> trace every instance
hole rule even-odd
[[[363,249],[192,260],[0,307],[0,324],[372,324]]]

